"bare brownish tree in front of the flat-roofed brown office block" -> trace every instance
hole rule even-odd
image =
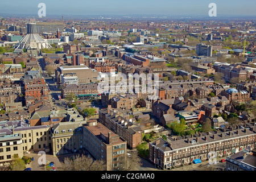
[[[106,164],[102,160],[94,160],[87,155],[76,155],[72,158],[65,158],[61,162],[63,171],[105,171]]]

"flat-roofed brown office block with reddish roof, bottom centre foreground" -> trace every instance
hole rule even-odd
[[[107,171],[115,171],[125,166],[126,141],[96,119],[82,125],[83,143],[86,150],[97,160],[103,160]]]

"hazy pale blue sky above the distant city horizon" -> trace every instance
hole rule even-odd
[[[46,4],[48,15],[205,15],[216,3],[218,15],[256,15],[255,0],[22,0],[1,1],[0,13],[38,14]]]

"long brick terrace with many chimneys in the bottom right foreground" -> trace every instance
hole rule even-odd
[[[208,160],[212,154],[225,156],[250,147],[255,147],[255,124],[250,127],[222,133],[200,133],[183,139],[167,137],[149,143],[148,158],[156,166],[170,169],[193,163],[193,160]]]

